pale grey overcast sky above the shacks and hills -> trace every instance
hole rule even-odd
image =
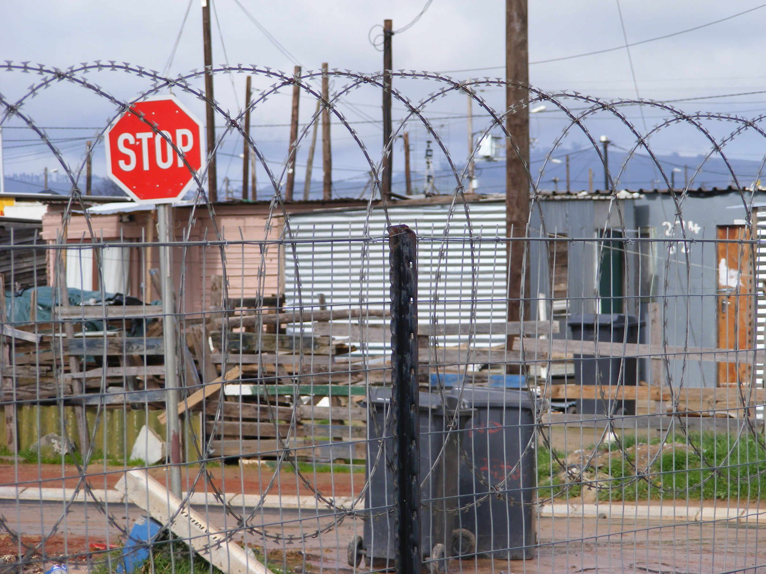
[[[217,64],[226,61],[229,64],[259,64],[280,70],[292,70],[296,62],[302,64],[304,69],[317,69],[322,61],[341,69],[379,70],[381,53],[368,41],[372,26],[380,24],[384,18],[392,18],[394,29],[400,28],[411,21],[424,5],[424,0],[239,2],[290,56],[280,51],[245,15],[237,0],[216,0],[214,61]],[[626,36],[629,42],[643,41],[707,24],[758,5],[757,0],[620,0],[619,5],[616,0],[532,0],[529,2],[530,61],[621,46]],[[190,8],[188,18],[169,68],[173,75],[183,73],[202,64],[200,0],[192,0],[191,4],[185,0],[7,2],[0,23],[0,59],[31,60],[57,67],[91,60],[119,60],[165,70],[187,8]],[[624,31],[618,8],[622,10]],[[499,0],[434,0],[417,24],[394,37],[394,68],[463,70],[496,67],[452,75],[502,75],[504,9],[504,2]],[[635,97],[638,93],[644,98],[667,100],[766,90],[763,87],[766,70],[761,57],[761,54],[766,54],[764,28],[766,8],[761,8],[698,31],[634,46],[630,48],[633,70],[628,52],[620,49],[548,64],[532,64],[530,79],[533,85],[544,90],[577,90],[605,98]],[[114,72],[94,74],[92,78],[116,96],[126,99],[148,85],[145,80]],[[34,79],[34,76],[2,72],[0,92],[9,99],[18,99]],[[271,83],[273,80],[254,80],[258,88]],[[408,85],[405,89],[419,99],[434,87]],[[235,110],[241,106],[244,78],[236,75],[219,77],[216,90],[216,96],[224,106]],[[486,90],[484,95],[494,106],[502,105],[499,90]],[[379,119],[378,93],[361,90],[348,99],[352,107],[345,107],[344,113],[349,119],[363,121],[365,115],[368,119]],[[289,117],[286,111],[288,101],[289,96],[285,93],[281,99],[278,97],[276,102],[267,104],[256,114],[254,123],[286,122]],[[189,105],[203,116],[197,102],[191,100]],[[676,105],[687,110],[758,116],[766,110],[766,97],[754,94],[700,99]],[[41,125],[82,127],[103,126],[114,111],[113,106],[107,106],[93,96],[83,95],[79,88],[66,85],[47,90],[47,93],[29,103],[26,109]],[[466,110],[465,99],[445,99],[432,110],[434,116],[461,116]],[[303,103],[302,121],[312,112],[313,103]],[[645,111],[643,118],[637,110],[629,116],[637,124],[649,127],[659,117],[652,110]],[[456,148],[462,145],[463,155],[466,141],[464,122],[464,119],[456,118],[444,123],[445,137]],[[548,145],[546,142],[552,141],[561,129],[557,122],[555,114],[546,116],[541,113],[533,119],[532,136],[537,139],[537,145],[544,147]],[[8,125],[20,124],[11,121]],[[608,130],[611,124],[604,123],[604,126]],[[18,142],[9,140],[21,139],[21,136],[9,132],[11,130],[5,130],[4,135],[6,171],[34,171],[50,162],[45,152],[35,154],[16,148]],[[362,125],[359,132],[363,137],[376,141],[380,133],[375,124]],[[348,136],[344,140],[343,134],[336,131],[334,135],[339,138],[336,165],[339,168],[346,165],[349,169],[361,169],[358,154],[349,152],[343,155],[344,146],[353,145]],[[624,143],[629,143],[629,136],[621,135],[618,129],[611,136],[624,137]],[[279,149],[283,147],[283,140],[286,140],[286,129],[264,129],[261,137],[267,148],[272,146],[270,152],[276,159],[281,153]],[[80,154],[77,145],[72,144],[73,158]],[[232,141],[231,145],[230,151],[234,152],[236,143]],[[658,145],[663,153],[678,151],[694,154],[705,151],[704,142],[686,138],[683,130],[658,140]],[[732,147],[732,154],[742,157],[751,157],[753,152],[750,144]]]

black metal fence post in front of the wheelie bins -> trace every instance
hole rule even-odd
[[[388,228],[391,265],[391,416],[394,421],[394,548],[398,574],[421,574],[421,468],[417,392],[417,238]]]

